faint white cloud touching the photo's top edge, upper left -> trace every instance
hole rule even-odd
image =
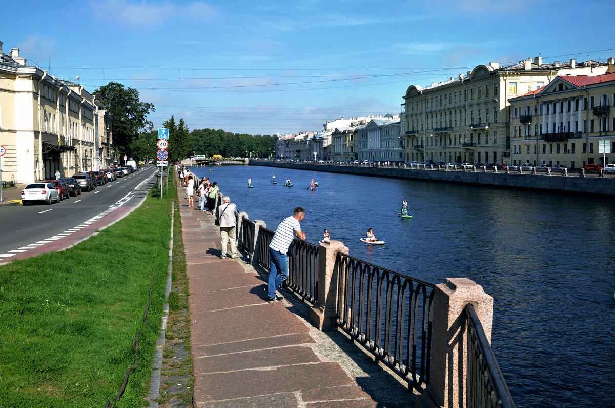
[[[192,2],[185,5],[171,2],[135,2],[128,0],[105,0],[90,2],[93,15],[100,20],[114,20],[130,27],[162,27],[175,20],[212,20],[216,11],[204,2]]]

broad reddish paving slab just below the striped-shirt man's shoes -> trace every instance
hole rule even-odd
[[[287,307],[284,302],[263,301],[245,308],[191,312],[192,347],[308,332]]]

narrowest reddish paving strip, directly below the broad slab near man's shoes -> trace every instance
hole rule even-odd
[[[258,350],[263,347],[276,348],[292,345],[304,345],[314,343],[308,333],[290,333],[281,336],[256,338],[250,340],[233,341],[217,345],[197,346],[192,345],[192,356],[217,356],[219,354],[239,353],[240,351]]]

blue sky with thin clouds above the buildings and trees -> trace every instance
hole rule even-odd
[[[411,84],[481,63],[615,56],[614,1],[64,1],[2,6],[3,51],[109,81],[190,129],[274,134],[399,113]]]

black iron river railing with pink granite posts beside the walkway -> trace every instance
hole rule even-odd
[[[237,228],[248,263],[269,271],[274,231],[244,212]],[[315,327],[343,330],[421,393],[416,407],[514,407],[490,345],[493,298],[472,280],[432,285],[354,258],[339,241],[295,239],[286,288],[311,305]]]

